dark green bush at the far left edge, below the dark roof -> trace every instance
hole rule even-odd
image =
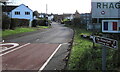
[[[3,30],[9,29],[10,28],[10,23],[11,23],[10,18],[3,13],[3,15],[2,15],[2,29]]]

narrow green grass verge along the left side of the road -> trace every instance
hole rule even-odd
[[[32,32],[39,29],[49,28],[48,26],[38,26],[37,28],[16,28],[15,30],[5,30],[0,33],[0,37],[6,37],[9,35],[20,34],[25,32]]]

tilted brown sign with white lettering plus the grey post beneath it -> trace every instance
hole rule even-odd
[[[118,49],[118,41],[117,40],[113,40],[113,39],[109,39],[109,38],[105,38],[105,37],[94,37],[93,41],[97,44],[101,44],[103,45],[102,48],[102,70],[103,72],[106,71],[106,55],[107,55],[107,48],[112,48],[112,49]]]

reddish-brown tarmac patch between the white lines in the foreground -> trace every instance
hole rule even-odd
[[[3,70],[39,70],[58,44],[30,44],[2,56]]]

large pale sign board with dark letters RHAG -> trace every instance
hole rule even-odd
[[[120,18],[119,0],[92,0],[92,18]]]

